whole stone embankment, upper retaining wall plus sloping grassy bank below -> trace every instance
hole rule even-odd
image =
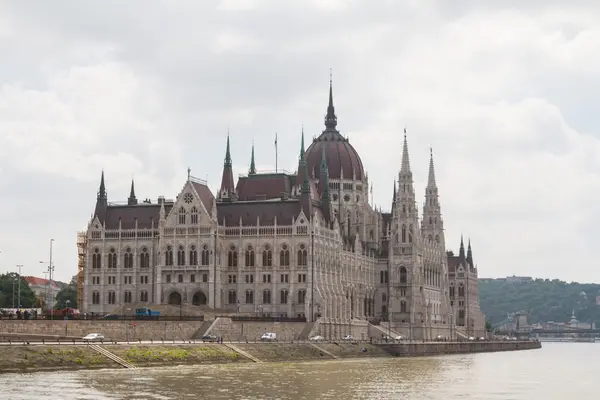
[[[137,368],[178,364],[295,362],[367,357],[415,357],[529,350],[533,341],[410,341],[381,342],[381,327],[368,327],[352,341],[309,342],[318,326],[306,322],[212,321],[0,321],[0,371],[83,368]],[[82,337],[102,333],[105,340],[85,344]],[[275,343],[261,343],[265,332]],[[366,332],[366,330],[365,330]],[[204,335],[223,343],[205,343]]]

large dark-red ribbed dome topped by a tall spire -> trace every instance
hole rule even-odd
[[[325,130],[316,138],[306,150],[306,164],[308,173],[318,177],[321,169],[323,152],[327,160],[329,179],[363,180],[365,171],[362,161],[354,147],[345,139],[338,130],[337,117],[333,107],[333,89],[329,82],[329,105],[325,116]]]

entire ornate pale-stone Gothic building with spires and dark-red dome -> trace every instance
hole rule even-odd
[[[462,298],[451,298],[460,283],[446,253],[433,156],[421,221],[406,132],[391,212],[375,209],[369,193],[358,153],[337,130],[331,85],[325,130],[306,150],[302,134],[296,173],[257,172],[252,148],[249,172],[235,184],[229,137],[216,195],[188,171],[174,200],[138,203],[132,182],[126,204],[109,203],[103,173],[81,308],[184,304],[306,317],[330,337],[373,319],[417,338],[483,326],[472,259],[460,262],[470,263],[475,286],[465,281],[460,310]]]

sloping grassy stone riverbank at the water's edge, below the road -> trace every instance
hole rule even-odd
[[[539,349],[539,342],[447,343],[223,343],[100,345],[135,367],[253,362],[299,362],[371,357]],[[89,345],[3,345],[1,372],[123,368]]]

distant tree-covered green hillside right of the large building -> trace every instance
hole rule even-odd
[[[506,282],[505,280],[479,280],[479,298],[486,319],[497,324],[506,319],[507,313],[526,311],[529,322],[567,322],[575,310],[581,322],[600,325],[600,285],[590,283],[567,283],[558,279],[536,279],[529,282]]]

